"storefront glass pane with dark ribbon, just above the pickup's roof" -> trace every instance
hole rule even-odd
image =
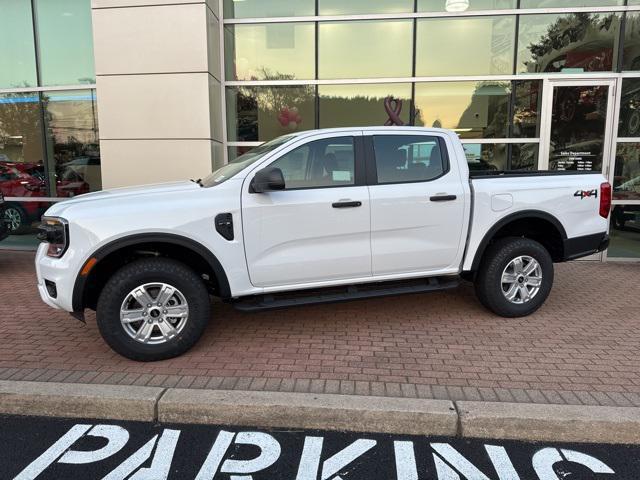
[[[408,125],[411,84],[320,85],[320,128]]]

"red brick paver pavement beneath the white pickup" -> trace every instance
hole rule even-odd
[[[136,363],[41,303],[33,254],[0,251],[0,379],[640,406],[640,264],[558,265],[547,304],[498,318],[442,293],[239,313],[182,357]]]

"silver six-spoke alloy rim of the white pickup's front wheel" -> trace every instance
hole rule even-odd
[[[147,345],[166,343],[189,319],[189,304],[177,288],[145,283],[129,292],[120,307],[120,323],[127,334]]]

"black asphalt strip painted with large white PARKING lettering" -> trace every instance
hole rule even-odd
[[[637,447],[8,417],[0,425],[1,472],[11,474],[0,476],[15,480],[640,479]]]

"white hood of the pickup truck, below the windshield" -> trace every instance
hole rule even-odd
[[[84,195],[78,195],[77,197],[73,197],[68,200],[63,200],[62,202],[54,204],[49,210],[47,210],[46,215],[61,216],[64,211],[71,207],[77,205],[89,205],[94,202],[101,202],[104,200],[126,201],[126,199],[128,198],[136,198],[140,200],[144,197],[190,192],[200,188],[202,187],[200,187],[197,183],[189,180],[171,183],[158,183],[155,185],[113,188],[110,190],[102,190],[100,192],[86,193]]]

